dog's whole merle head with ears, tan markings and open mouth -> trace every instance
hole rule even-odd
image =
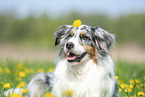
[[[55,45],[60,47],[59,56],[66,58],[70,64],[78,64],[89,59],[97,64],[97,59],[108,53],[113,42],[113,34],[88,25],[64,25],[55,32]]]

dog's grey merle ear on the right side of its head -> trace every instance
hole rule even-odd
[[[92,27],[91,29],[97,49],[108,53],[115,42],[115,35],[99,27]]]

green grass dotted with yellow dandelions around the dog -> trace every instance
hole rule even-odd
[[[145,93],[145,64],[118,61],[116,78],[120,87],[120,97],[143,97]],[[26,88],[29,80],[39,72],[50,72],[55,68],[53,62],[14,62],[0,61],[0,94],[9,88]],[[6,83],[10,87],[4,88]],[[24,85],[22,84],[24,83]],[[48,94],[49,95],[49,94]]]

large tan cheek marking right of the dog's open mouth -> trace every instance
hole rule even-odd
[[[93,48],[89,45],[84,45],[85,50],[87,51],[89,57],[97,64],[97,51],[96,48]]]

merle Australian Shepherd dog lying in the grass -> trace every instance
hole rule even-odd
[[[63,25],[55,32],[59,55],[54,72],[40,73],[28,84],[31,97],[50,90],[55,97],[116,97],[114,63],[109,50],[113,34],[100,27]]]

